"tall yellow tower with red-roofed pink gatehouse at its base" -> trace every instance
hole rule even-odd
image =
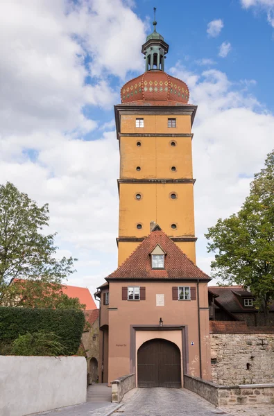
[[[207,282],[196,266],[191,127],[183,80],[164,71],[169,45],[142,46],[146,71],[114,106],[120,148],[118,268],[101,300],[99,381],[135,374],[139,387],[211,379]],[[157,225],[158,224],[158,225]]]

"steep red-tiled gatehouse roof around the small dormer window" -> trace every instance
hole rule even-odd
[[[149,255],[159,244],[166,252],[164,270],[151,268]],[[185,253],[173,243],[161,230],[153,231],[106,279],[206,279],[210,280],[202,270],[191,261]]]

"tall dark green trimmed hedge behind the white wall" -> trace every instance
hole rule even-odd
[[[65,347],[65,355],[76,354],[84,324],[83,311],[74,309],[0,307],[0,354],[10,354],[12,343],[20,335],[40,331],[55,333]]]

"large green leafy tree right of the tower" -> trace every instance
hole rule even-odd
[[[255,174],[239,212],[220,218],[205,237],[207,251],[215,253],[213,277],[249,287],[268,324],[274,299],[274,150]]]

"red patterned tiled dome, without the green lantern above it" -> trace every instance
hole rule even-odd
[[[146,71],[121,88],[122,103],[134,101],[176,101],[187,104],[187,84],[163,71]]]

